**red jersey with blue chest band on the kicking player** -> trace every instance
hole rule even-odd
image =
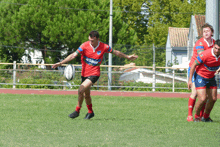
[[[99,42],[97,47],[93,47],[89,41],[84,42],[76,51],[81,54],[83,77],[100,76],[100,64],[102,63],[104,53],[113,52],[113,49]]]

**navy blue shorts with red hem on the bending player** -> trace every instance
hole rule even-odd
[[[211,79],[203,78],[197,73],[195,73],[195,86],[196,89],[217,89],[217,84],[215,77]]]

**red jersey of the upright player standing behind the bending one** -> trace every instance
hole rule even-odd
[[[199,55],[199,53],[208,50],[208,49],[212,49],[214,46],[215,40],[212,38],[212,44],[209,44],[204,38],[200,38],[194,48],[193,48],[193,56],[190,60],[189,63],[189,67],[191,67],[191,65],[193,64],[193,62],[196,60],[197,56]]]

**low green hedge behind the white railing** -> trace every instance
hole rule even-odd
[[[30,88],[30,89],[78,89],[81,84],[81,73],[76,72],[75,78],[72,81],[68,81],[71,86],[49,86],[53,84],[63,85],[65,84],[63,81],[66,81],[62,72],[54,72],[54,71],[39,71],[36,69],[31,69],[34,71],[23,71],[17,72],[16,78],[17,84],[30,84],[30,85],[16,85],[16,88]],[[7,74],[5,72],[0,73],[0,82],[1,83],[13,83],[12,80],[12,72]],[[122,74],[122,73],[121,73]],[[112,87],[112,90],[120,90],[120,91],[152,91],[152,83],[143,83],[143,82],[121,82],[119,81],[119,77],[121,74],[112,74],[112,85],[116,87]],[[31,85],[31,84],[39,84],[39,85]],[[42,84],[42,85],[40,85]],[[98,86],[108,86],[108,75],[101,74],[99,80],[94,84],[91,88],[92,90],[108,90],[108,87],[98,87]],[[119,86],[127,86],[127,87],[119,87]],[[128,87],[131,86],[131,87]],[[2,88],[12,88],[12,85],[0,85]],[[156,83],[155,91],[158,92],[172,92],[172,83]],[[185,89],[175,89],[175,92],[190,92],[187,88],[187,83],[175,83],[175,88],[185,88]]]

